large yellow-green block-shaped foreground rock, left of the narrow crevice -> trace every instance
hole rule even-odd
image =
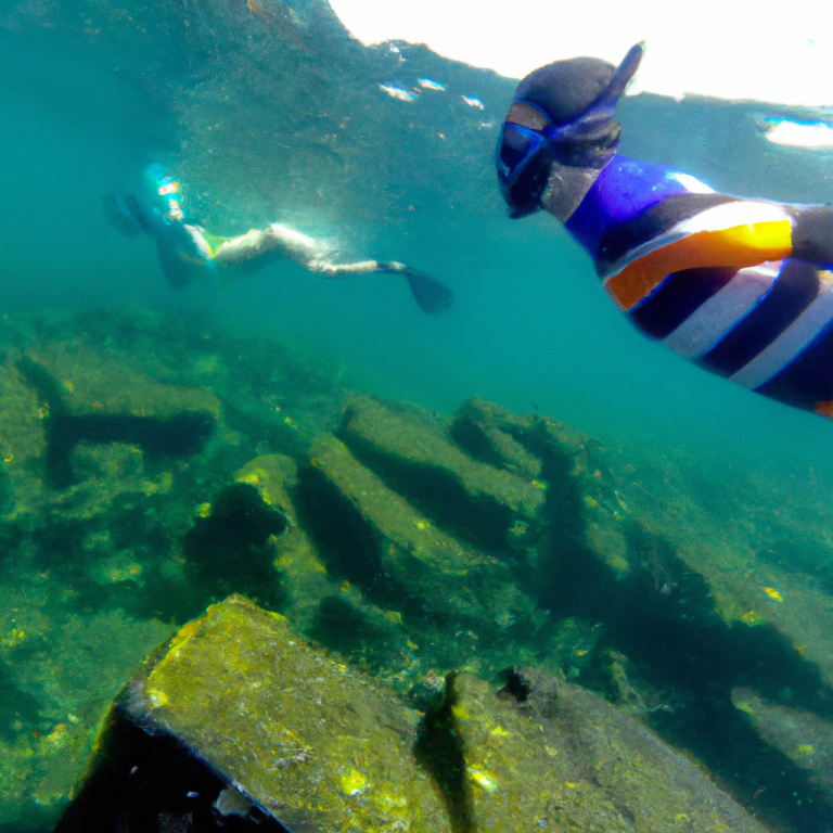
[[[182,628],[126,707],[293,830],[450,830],[411,753],[419,714],[241,597]]]

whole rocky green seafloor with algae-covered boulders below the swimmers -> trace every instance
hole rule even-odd
[[[292,831],[833,829],[816,473],[718,492],[181,312],[0,356],[0,831],[73,830],[125,721]]]

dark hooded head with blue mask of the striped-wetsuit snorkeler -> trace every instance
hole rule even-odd
[[[517,87],[498,139],[498,181],[511,217],[539,210],[553,164],[599,169],[619,142],[616,104],[644,48],[632,47],[614,69],[573,59],[536,69]]]

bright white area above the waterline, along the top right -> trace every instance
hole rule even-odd
[[[648,42],[630,92],[833,106],[830,0],[331,0],[364,43],[406,40],[521,78],[576,55],[618,64]]]

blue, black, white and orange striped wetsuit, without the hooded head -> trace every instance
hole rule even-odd
[[[833,416],[833,213],[718,194],[614,156],[566,222],[636,326],[707,370]],[[798,259],[798,255],[803,259]]]

